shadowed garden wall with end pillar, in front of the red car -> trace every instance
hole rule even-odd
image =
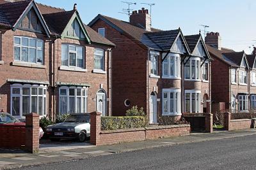
[[[26,125],[0,124],[0,148],[39,150],[39,115],[26,115]]]

